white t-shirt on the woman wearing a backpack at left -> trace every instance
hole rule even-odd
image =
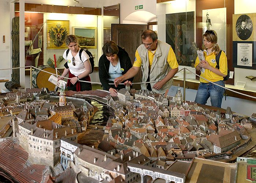
[[[81,48],[79,48],[77,55],[74,57],[75,58],[75,66],[73,66],[73,61],[72,61],[73,55],[72,55],[71,51],[68,52],[68,55],[66,53],[67,50],[64,51],[64,53],[63,53],[63,58],[65,60],[67,60],[67,65],[69,67],[69,71],[71,72],[71,74],[74,74],[75,76],[78,76],[78,75],[82,74],[84,71],[86,71],[84,62],[89,59],[89,56],[87,55],[87,53],[83,51],[82,55],[81,55],[82,60],[80,60],[80,57],[79,57],[80,49]]]

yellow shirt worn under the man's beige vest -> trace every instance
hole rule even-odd
[[[152,66],[152,63],[153,63],[153,58],[155,56],[155,52],[156,52],[156,49],[155,49],[155,51],[153,51],[153,53],[151,51],[148,51],[149,70],[151,69],[151,66]],[[173,60],[175,60],[175,61],[173,61]],[[167,62],[168,62],[169,66],[172,69],[173,68],[178,68],[178,66],[179,66],[179,64],[176,60],[175,53],[173,52],[171,47],[170,47],[170,50],[169,50],[169,53],[168,53],[168,56],[167,56]],[[133,63],[133,66],[141,67],[141,57],[138,53],[138,50],[136,50],[136,53],[135,53],[135,61]]]

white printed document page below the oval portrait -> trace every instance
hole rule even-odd
[[[237,43],[237,65],[252,67],[252,43]]]

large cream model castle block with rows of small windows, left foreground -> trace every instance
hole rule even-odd
[[[63,127],[45,120],[19,125],[20,145],[29,153],[29,160],[34,164],[55,167],[60,162],[60,138],[77,142],[77,132],[70,127]]]

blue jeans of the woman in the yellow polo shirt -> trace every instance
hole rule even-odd
[[[224,81],[214,82],[220,86],[225,86]],[[213,83],[201,83],[196,93],[195,102],[198,104],[206,104],[209,97],[211,97],[211,104],[214,107],[221,108],[223,93],[225,89],[214,85]]]

